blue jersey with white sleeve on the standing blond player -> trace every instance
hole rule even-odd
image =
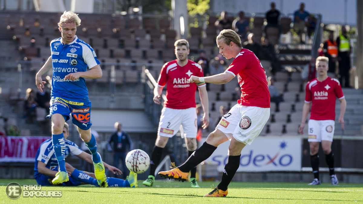
[[[83,40],[76,38],[69,44],[62,43],[62,38],[50,42],[52,52],[53,80],[52,96],[64,99],[76,99],[76,102],[89,101],[88,90],[84,78],[74,81],[64,77],[70,73],[86,72],[99,64],[96,53]]]

